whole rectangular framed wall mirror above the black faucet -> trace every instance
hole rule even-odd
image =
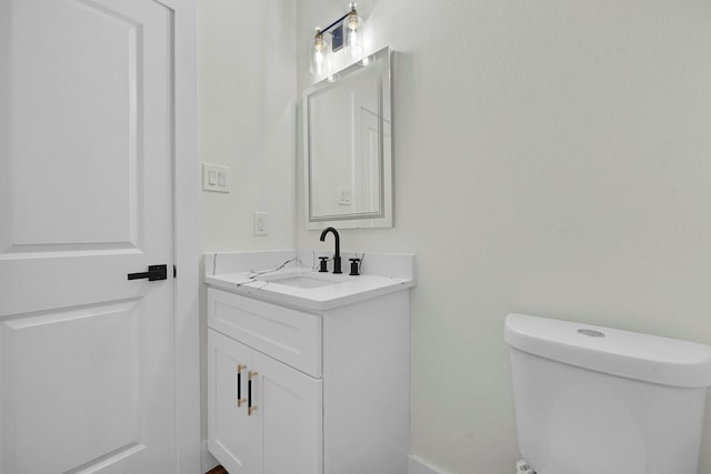
[[[390,49],[303,92],[306,226],[391,228]]]

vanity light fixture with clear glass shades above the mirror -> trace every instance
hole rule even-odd
[[[356,2],[350,2],[348,13],[326,28],[316,29],[310,54],[310,71],[313,75],[329,74],[329,56],[343,48],[351,58],[357,59],[363,54],[363,20],[358,16],[356,7]],[[327,33],[330,34],[330,41]]]

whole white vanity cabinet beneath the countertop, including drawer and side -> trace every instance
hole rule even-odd
[[[208,288],[208,448],[230,474],[407,473],[409,291],[302,311]]]

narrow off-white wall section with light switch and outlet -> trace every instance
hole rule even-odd
[[[201,193],[202,252],[294,248],[294,26],[292,0],[198,2],[200,161],[231,169],[229,194]],[[267,236],[252,233],[254,211]],[[200,299],[204,332],[202,285]]]

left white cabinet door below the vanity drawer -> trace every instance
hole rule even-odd
[[[208,448],[230,474],[261,473],[261,428],[247,407],[251,357],[248,346],[208,330]]]

